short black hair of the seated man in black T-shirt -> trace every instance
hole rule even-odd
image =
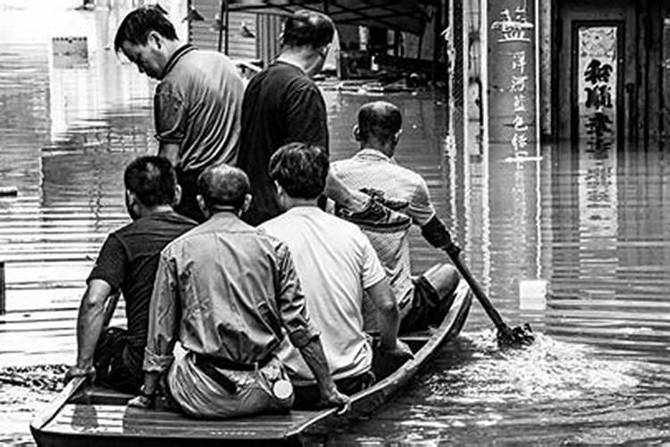
[[[167,158],[140,156],[126,167],[123,184],[145,207],[172,205],[177,174]]]

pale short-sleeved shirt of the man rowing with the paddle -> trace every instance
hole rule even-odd
[[[435,215],[423,178],[378,150],[363,149],[351,158],[331,164],[331,171],[348,188],[381,190],[387,198],[406,200],[404,213],[418,225]],[[414,285],[411,281],[408,230],[405,232],[367,232],[381,263],[389,274],[401,314],[408,310]]]

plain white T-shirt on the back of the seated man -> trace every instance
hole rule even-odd
[[[364,234],[318,207],[293,207],[261,228],[291,250],[308,313],[322,333],[331,374],[339,379],[369,370],[372,350],[363,331],[363,291],[379,283],[385,273]],[[294,382],[313,380],[287,343],[281,356]]]

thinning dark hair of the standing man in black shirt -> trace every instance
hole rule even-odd
[[[318,48],[328,45],[335,34],[335,25],[326,14],[315,11],[297,11],[284,22],[281,38],[283,46],[311,46]]]

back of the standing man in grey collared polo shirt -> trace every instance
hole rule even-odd
[[[244,85],[226,55],[180,49],[156,88],[156,136],[180,144],[180,169],[234,164],[239,148]]]

